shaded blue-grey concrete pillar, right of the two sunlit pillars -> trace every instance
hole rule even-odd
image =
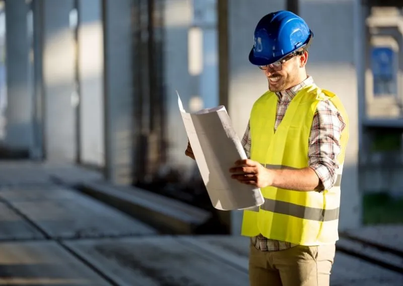
[[[133,31],[131,0],[103,1],[105,64],[105,175],[118,184],[132,181],[136,122],[133,122]],[[137,167],[137,166],[135,166]],[[141,168],[142,166],[138,166]]]

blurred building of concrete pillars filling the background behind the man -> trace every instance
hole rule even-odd
[[[239,136],[267,89],[248,62],[257,21],[291,10],[314,32],[308,73],[350,116],[341,228],[403,221],[401,0],[0,1],[0,153],[78,164],[217,213],[184,156],[187,111],[225,105]],[[388,209],[388,215],[385,215]],[[381,219],[379,219],[381,216]],[[382,220],[382,221],[379,221]]]

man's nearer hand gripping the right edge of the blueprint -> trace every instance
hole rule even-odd
[[[249,159],[235,162],[235,166],[230,169],[230,173],[233,173],[231,178],[238,180],[242,184],[254,185],[258,188],[271,186],[274,179],[274,174],[271,170]]]

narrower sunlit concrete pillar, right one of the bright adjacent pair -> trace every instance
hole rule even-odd
[[[103,28],[101,0],[79,1],[80,161],[104,165]]]

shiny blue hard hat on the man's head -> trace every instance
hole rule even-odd
[[[254,31],[254,45],[249,61],[255,65],[271,64],[308,46],[313,33],[306,22],[290,11],[267,14]]]

